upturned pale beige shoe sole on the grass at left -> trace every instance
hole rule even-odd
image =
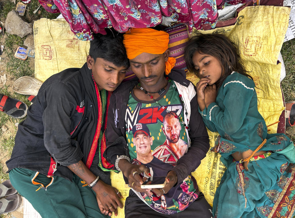
[[[37,95],[42,82],[31,76],[22,76],[12,85],[13,91],[22,95]]]

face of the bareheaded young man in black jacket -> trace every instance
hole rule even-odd
[[[87,56],[87,65],[92,70],[99,91],[102,89],[114,91],[125,78],[128,69],[126,66],[118,67],[102,58],[97,58],[94,63],[90,55]]]

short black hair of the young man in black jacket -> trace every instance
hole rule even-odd
[[[112,62],[117,67],[129,67],[126,50],[123,45],[123,34],[114,29],[105,29],[107,34],[93,34],[93,40],[90,42],[89,55],[96,61],[96,58],[102,58]]]

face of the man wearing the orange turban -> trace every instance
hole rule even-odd
[[[168,59],[169,50],[163,54],[141,53],[130,61],[131,70],[145,86],[154,86],[164,78],[165,60]]]

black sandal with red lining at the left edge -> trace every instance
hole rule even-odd
[[[13,118],[23,118],[27,115],[28,106],[18,99],[0,94],[0,111]]]

